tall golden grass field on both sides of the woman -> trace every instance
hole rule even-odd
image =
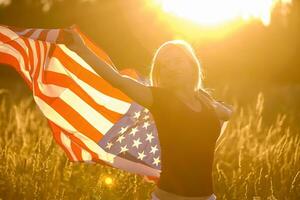
[[[154,184],[100,164],[72,163],[32,98],[0,91],[0,199],[146,200]],[[222,200],[299,200],[300,134],[289,113],[266,123],[264,95],[236,113],[217,143],[214,187]]]

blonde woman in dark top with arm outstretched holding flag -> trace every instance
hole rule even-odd
[[[232,113],[205,92],[192,47],[180,40],[161,45],[151,65],[151,86],[123,76],[100,60],[72,30],[68,47],[101,77],[148,108],[161,146],[161,174],[152,199],[214,200],[212,165],[221,126]],[[184,135],[184,137],[181,137]]]

